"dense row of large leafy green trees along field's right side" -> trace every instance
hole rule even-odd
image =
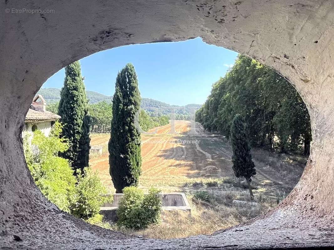
[[[229,138],[236,114],[245,119],[251,145],[310,153],[310,117],[300,95],[284,77],[243,55],[213,84],[196,121]]]

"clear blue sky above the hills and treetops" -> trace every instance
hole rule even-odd
[[[101,51],[80,60],[87,90],[113,95],[118,71],[131,62],[138,75],[142,97],[174,105],[203,104],[211,86],[234,63],[237,53],[204,43],[135,44]],[[61,88],[64,69],[42,88]]]

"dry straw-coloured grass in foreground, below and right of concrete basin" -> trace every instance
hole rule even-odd
[[[189,195],[188,200],[192,200]],[[268,203],[262,203],[261,209],[251,207],[238,208],[232,207],[230,202],[230,206],[215,204],[214,208],[209,208],[203,205],[195,205],[191,202],[191,207],[191,213],[185,211],[163,211],[161,216],[162,223],[151,226],[148,229],[139,231],[123,229],[121,231],[154,239],[210,235],[217,230],[238,225],[258,216],[271,206]],[[114,227],[114,229],[118,228]]]

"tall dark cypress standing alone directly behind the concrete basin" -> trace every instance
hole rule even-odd
[[[116,78],[108,144],[110,175],[117,193],[122,193],[124,187],[137,186],[141,173],[141,138],[135,127],[140,99],[137,74],[128,63]]]

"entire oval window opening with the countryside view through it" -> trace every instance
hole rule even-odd
[[[27,164],[38,168],[32,175],[67,180],[49,190],[38,180],[42,193],[89,223],[149,238],[212,234],[274,208],[310,154],[310,118],[294,87],[200,38],[93,54],[38,94],[45,103],[33,112],[47,133],[36,133]]]

